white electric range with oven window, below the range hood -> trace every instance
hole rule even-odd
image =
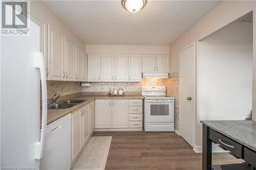
[[[174,98],[166,96],[165,86],[142,86],[144,131],[174,131]]]

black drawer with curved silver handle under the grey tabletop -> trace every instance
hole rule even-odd
[[[239,158],[243,158],[243,146],[242,144],[222,135],[221,133],[210,129],[209,138],[218,143],[222,148],[230,151],[232,154]]]

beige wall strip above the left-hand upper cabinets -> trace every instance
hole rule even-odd
[[[30,1],[30,14],[44,23],[49,23],[51,27],[58,30],[63,36],[74,43],[84,47],[83,41],[77,37],[49,8],[41,1]]]

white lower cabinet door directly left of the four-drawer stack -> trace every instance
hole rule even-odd
[[[113,100],[113,128],[128,128],[128,100]]]

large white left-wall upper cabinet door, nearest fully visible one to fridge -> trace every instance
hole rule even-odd
[[[64,37],[48,25],[49,80],[65,80]]]

